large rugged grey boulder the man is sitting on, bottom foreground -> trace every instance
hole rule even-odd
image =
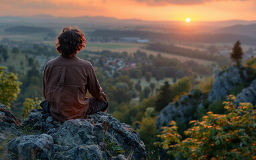
[[[88,115],[88,119],[66,121],[52,137],[54,143],[68,146],[69,149],[81,149],[78,147],[80,145],[99,145],[99,148],[108,155],[109,151],[102,147],[102,142],[112,141],[125,150],[125,155],[129,155],[132,150],[133,156],[131,159],[143,159],[146,155],[145,146],[135,130],[125,123],[120,123],[111,115],[102,112]],[[94,155],[103,156],[104,154],[94,153]],[[100,159],[100,157],[98,158]]]

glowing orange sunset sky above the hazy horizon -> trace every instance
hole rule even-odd
[[[146,21],[256,20],[256,0],[0,0],[0,16],[105,16]]]

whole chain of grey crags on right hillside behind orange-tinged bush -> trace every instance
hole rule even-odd
[[[249,83],[247,77],[246,68],[231,66],[225,71],[219,71],[215,75],[214,83],[208,95],[200,93],[204,98],[194,98],[194,90],[192,90],[188,95],[180,97],[178,101],[169,103],[168,106],[159,113],[155,126],[159,129],[160,127],[168,125],[172,120],[188,124],[190,120],[194,119],[193,115],[196,110],[203,106],[205,102],[211,104],[219,99],[225,101],[227,95],[233,93],[239,85],[247,86],[247,83]],[[252,81],[249,87],[246,87],[237,94],[236,105],[238,106],[241,102],[250,102],[256,105],[256,80]]]

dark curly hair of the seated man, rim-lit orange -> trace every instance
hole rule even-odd
[[[62,54],[65,58],[75,56],[78,51],[85,47],[86,40],[84,33],[76,27],[66,26],[62,33],[58,36],[58,41],[55,45],[58,53]]]

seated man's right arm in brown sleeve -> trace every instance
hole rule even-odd
[[[91,64],[88,68],[87,87],[92,97],[99,101],[106,101],[107,95],[105,95],[103,92],[103,89],[101,88],[101,85]]]

